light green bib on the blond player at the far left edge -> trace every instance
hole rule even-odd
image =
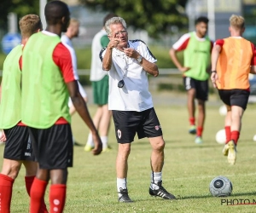
[[[2,97],[0,104],[0,129],[9,129],[21,119],[21,72],[19,60],[22,46],[18,45],[3,62]]]

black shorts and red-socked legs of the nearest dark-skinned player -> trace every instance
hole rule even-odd
[[[50,212],[62,212],[66,199],[67,167],[73,162],[73,142],[69,124],[53,125],[49,129],[30,128],[36,149],[39,170],[31,189],[31,212],[38,212],[49,179]],[[53,150],[54,147],[54,150]],[[38,152],[40,151],[40,152]]]

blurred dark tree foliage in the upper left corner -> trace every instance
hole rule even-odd
[[[39,14],[38,0],[1,0],[0,26],[2,30],[7,30],[7,16],[14,12],[19,18],[26,14]]]

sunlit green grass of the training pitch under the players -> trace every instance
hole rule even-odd
[[[96,107],[90,106],[94,113]],[[255,188],[255,106],[250,105],[243,118],[238,158],[230,166],[222,156],[222,145],[215,142],[218,130],[223,129],[224,117],[218,107],[207,107],[204,143],[196,145],[194,136],[187,133],[188,118],[185,106],[155,107],[166,140],[166,159],[163,184],[174,193],[175,201],[152,198],[148,195],[150,181],[150,146],[146,139],[134,141],[129,158],[128,187],[132,204],[119,204],[116,193],[115,157],[117,144],[111,125],[109,143],[113,150],[92,156],[83,147],[74,147],[74,166],[69,169],[65,212],[255,212],[254,205],[221,205],[213,198],[208,186],[215,176],[227,176],[233,183],[228,199],[256,199]],[[85,144],[88,128],[77,114],[73,117],[73,134]],[[3,146],[0,147],[3,153]],[[0,160],[2,164],[3,159]],[[29,198],[24,184],[24,169],[15,181],[12,213],[28,211]],[[48,192],[49,188],[47,189]],[[48,193],[45,195],[48,203]]]

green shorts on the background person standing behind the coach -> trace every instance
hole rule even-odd
[[[93,101],[97,105],[108,104],[108,75],[104,76],[100,81],[93,81]]]

